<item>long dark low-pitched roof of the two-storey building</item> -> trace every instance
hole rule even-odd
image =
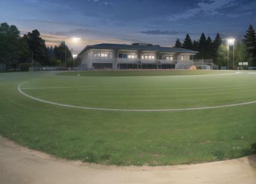
[[[159,46],[148,46],[148,45],[126,45],[126,44],[97,44],[86,46],[79,55],[88,51],[89,49],[113,49],[113,50],[136,50],[136,51],[153,51],[153,52],[175,52],[175,53],[191,53],[196,54],[198,52],[191,51],[184,48],[174,47],[159,47]]]

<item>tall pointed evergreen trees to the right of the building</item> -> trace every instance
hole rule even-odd
[[[249,66],[256,66],[256,36],[251,24],[243,37],[244,39],[241,42],[236,40],[234,43],[234,65],[238,66],[238,62],[249,62]],[[227,40],[222,40],[218,33],[214,40],[202,33],[199,40],[193,41],[187,34],[183,43],[181,43],[180,39],[177,39],[174,47],[199,52],[194,59],[213,60],[213,63],[218,66],[228,66]],[[230,62],[233,62],[232,47],[229,49]],[[230,64],[229,68],[232,69],[233,64]]]

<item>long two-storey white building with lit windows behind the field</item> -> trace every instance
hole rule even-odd
[[[81,68],[93,69],[189,69],[196,51],[157,45],[97,44],[81,53]]]

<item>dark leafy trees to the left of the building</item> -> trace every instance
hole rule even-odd
[[[38,30],[20,36],[16,26],[0,24],[0,62],[6,64],[6,69],[19,63],[33,63],[34,66],[65,66],[65,50],[67,67],[72,67],[72,53],[64,41],[54,48],[46,47],[46,41],[42,39]]]

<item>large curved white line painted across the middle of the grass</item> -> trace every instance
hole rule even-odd
[[[224,107],[234,107],[234,106],[243,106],[246,104],[253,104],[256,103],[256,101],[251,102],[244,102],[244,103],[235,103],[235,104],[228,104],[224,106],[212,106],[212,107],[196,107],[196,108],[171,108],[171,109],[115,109],[115,108],[96,108],[96,107],[81,107],[81,106],[72,106],[68,104],[62,104],[62,103],[55,103],[50,101],[44,101],[43,99],[39,99],[36,97],[32,97],[31,95],[28,95],[24,93],[20,86],[22,86],[25,82],[22,82],[18,85],[18,91],[19,93],[23,94],[24,96],[34,99],[35,101],[53,104],[56,106],[62,106],[62,107],[71,107],[71,108],[82,108],[82,109],[88,109],[88,110],[102,110],[102,111],[134,111],[134,112],[159,112],[159,111],[189,111],[189,110],[205,110],[205,109],[212,109],[212,108],[224,108]]]

